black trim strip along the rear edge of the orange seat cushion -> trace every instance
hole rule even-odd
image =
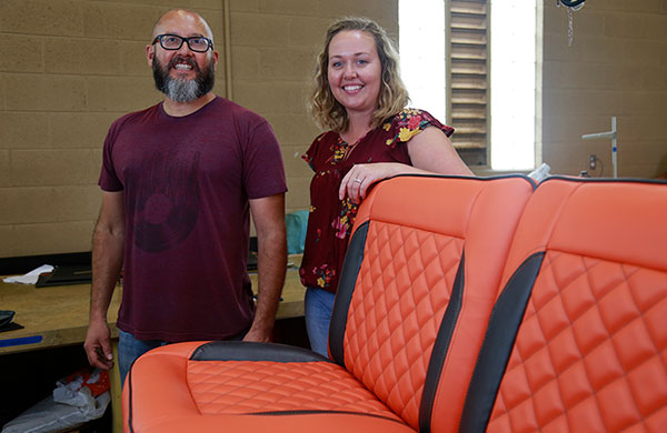
[[[308,349],[278,343],[252,341],[212,341],[201,344],[190,361],[270,361],[270,362],[331,362]]]

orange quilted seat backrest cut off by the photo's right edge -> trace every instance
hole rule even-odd
[[[540,183],[501,286],[460,431],[667,431],[667,184]]]

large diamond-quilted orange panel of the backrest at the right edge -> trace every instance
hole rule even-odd
[[[666,272],[548,252],[489,431],[664,431],[665,318]]]

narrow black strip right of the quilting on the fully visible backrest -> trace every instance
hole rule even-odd
[[[436,393],[438,391],[438,384],[440,383],[440,375],[442,374],[442,366],[445,359],[449,352],[449,344],[451,343],[451,335],[456,329],[458,322],[461,305],[464,302],[464,288],[465,288],[465,271],[466,271],[466,259],[465,252],[461,255],[461,260],[456,271],[456,279],[454,280],[454,286],[451,288],[451,296],[449,303],[445,310],[442,321],[440,322],[440,329],[434,343],[430,360],[428,362],[428,370],[426,372],[426,380],[424,382],[424,391],[421,393],[421,403],[419,405],[419,431],[429,433],[431,427],[431,419],[434,413],[434,404],[436,402]]]

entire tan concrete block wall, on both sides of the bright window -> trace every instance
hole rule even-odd
[[[225,0],[0,1],[0,258],[90,250],[100,204],[102,141],[125,112],[156,103],[145,47],[155,20],[183,7],[225,46]],[[311,172],[299,158],[319,132],[307,112],[315,56],[329,22],[378,20],[398,36],[397,0],[228,0],[231,99],[272,124],[290,191],[307,209]],[[581,134],[618,118],[619,175],[667,172],[667,2],[545,0],[541,153],[578,174],[595,153],[611,174],[610,141]],[[226,95],[225,58],[216,91]],[[456,127],[456,125],[455,125]],[[599,171],[591,172],[594,175]]]

